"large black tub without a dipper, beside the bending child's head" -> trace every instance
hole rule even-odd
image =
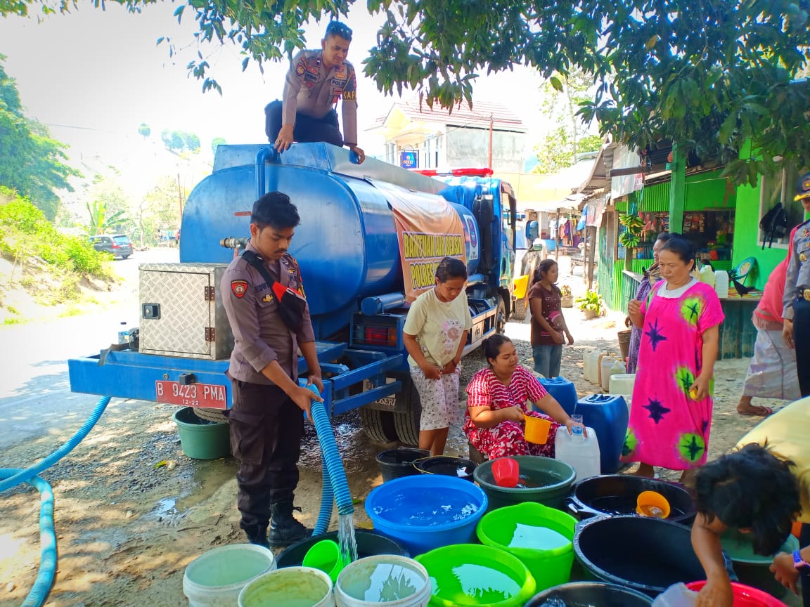
[[[658,596],[672,584],[706,579],[691,529],[646,516],[594,517],[577,525],[573,552],[586,575]]]

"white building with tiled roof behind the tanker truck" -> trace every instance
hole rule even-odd
[[[395,101],[367,129],[373,154],[405,168],[488,167],[519,173],[527,129],[500,104],[475,102],[452,112],[419,100]]]

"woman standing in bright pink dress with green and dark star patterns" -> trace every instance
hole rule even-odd
[[[664,280],[628,306],[642,345],[621,459],[641,462],[639,476],[660,466],[683,470],[683,482],[706,462],[723,310],[714,289],[693,278],[694,264],[693,245],[673,237],[659,253]]]

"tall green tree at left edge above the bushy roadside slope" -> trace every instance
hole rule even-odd
[[[0,15],[9,12],[3,2]],[[80,173],[62,163],[65,144],[51,139],[45,126],[23,114],[15,80],[2,66],[5,58],[0,54],[0,185],[30,198],[53,221],[60,205],[54,190],[72,192],[67,179]]]

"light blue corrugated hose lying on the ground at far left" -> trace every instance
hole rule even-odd
[[[82,427],[76,431],[75,435],[71,436],[62,447],[45,457],[43,460],[30,468],[2,468],[0,469],[0,491],[11,489],[18,486],[23,482],[28,482],[40,492],[40,543],[41,558],[40,558],[40,572],[36,575],[36,581],[28,593],[28,596],[23,602],[23,607],[40,607],[45,603],[48,598],[51,586],[53,586],[53,577],[56,575],[56,534],[53,532],[53,492],[50,485],[45,482],[43,478],[37,476],[45,469],[49,469],[52,465],[56,464],[62,457],[75,449],[76,445],[82,442],[82,439],[87,436],[92,428],[99,421],[101,414],[109,404],[110,397],[101,397],[96,403],[90,417],[83,423]],[[334,440],[334,437],[333,437]]]

